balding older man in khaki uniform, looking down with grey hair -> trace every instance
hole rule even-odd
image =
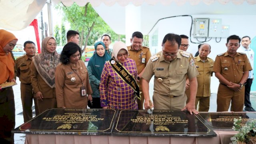
[[[211,46],[209,44],[201,44],[199,55],[195,57],[196,68],[199,72],[199,75],[196,76],[198,87],[195,106],[197,107],[199,102],[199,112],[208,112],[210,108],[210,83],[214,64],[214,61],[207,57],[210,52]]]

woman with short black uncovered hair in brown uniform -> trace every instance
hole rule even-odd
[[[55,72],[58,108],[87,108],[92,100],[88,72],[81,57],[81,49],[74,42],[67,43]],[[88,98],[87,95],[88,94]]]

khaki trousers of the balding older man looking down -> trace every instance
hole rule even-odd
[[[197,106],[198,102],[199,102],[199,106]],[[198,112],[208,112],[210,108],[210,96],[207,96],[207,97],[197,96],[196,102],[195,102],[195,108],[197,109],[197,107],[198,107]]]

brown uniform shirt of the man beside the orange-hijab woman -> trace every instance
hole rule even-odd
[[[20,56],[16,59],[16,68],[17,68],[17,76],[20,78],[20,82],[24,84],[30,84],[30,65],[32,62],[32,58],[29,58],[26,54],[24,56]]]

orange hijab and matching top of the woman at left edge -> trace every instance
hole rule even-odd
[[[6,31],[0,30],[0,84],[6,82],[6,80],[11,80],[14,78],[14,60],[11,54],[6,54],[4,52],[4,46],[12,40],[18,40],[14,34]]]

